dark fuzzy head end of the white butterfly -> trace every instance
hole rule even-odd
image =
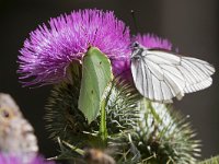
[[[146,50],[143,46],[141,46],[138,42],[132,43],[131,45],[131,59],[139,59],[142,57],[142,52]]]

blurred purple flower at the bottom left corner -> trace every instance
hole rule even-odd
[[[32,160],[25,155],[11,155],[5,153],[0,153],[0,164],[55,164],[51,161],[45,161],[42,156],[33,157]]]

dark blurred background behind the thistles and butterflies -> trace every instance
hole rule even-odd
[[[132,32],[130,10],[135,10],[140,33],[169,38],[181,54],[207,60],[219,70],[218,0],[0,0],[0,92],[16,99],[35,128],[41,152],[47,157],[57,153],[43,119],[50,86],[21,86],[16,74],[19,49],[38,24],[85,8],[114,10]],[[203,140],[203,157],[219,154],[218,79],[216,73],[211,87],[188,94],[174,104],[184,115],[191,115],[197,138]]]

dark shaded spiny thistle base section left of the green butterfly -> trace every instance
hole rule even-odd
[[[93,138],[89,132],[97,130],[97,122],[93,121],[89,125],[81,110],[78,109],[81,66],[72,65],[69,71],[71,83],[62,82],[51,90],[46,105],[46,128],[54,140],[60,138],[77,147],[84,147]]]

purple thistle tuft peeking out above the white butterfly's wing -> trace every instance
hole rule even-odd
[[[172,49],[172,44],[168,39],[160,38],[154,34],[138,34],[134,40],[140,43],[147,48],[162,48],[166,50]]]

